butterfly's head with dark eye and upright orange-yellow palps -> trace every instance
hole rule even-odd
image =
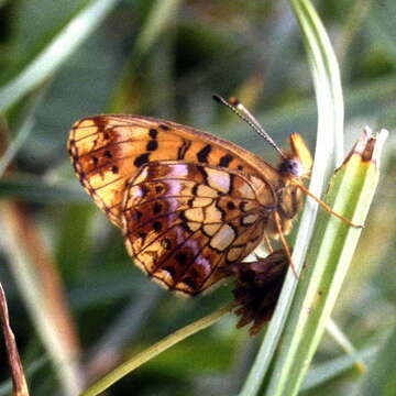
[[[285,177],[306,178],[309,177],[312,167],[312,157],[298,133],[289,136],[290,152],[284,153],[278,170]]]

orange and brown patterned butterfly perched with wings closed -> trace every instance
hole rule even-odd
[[[310,195],[301,180],[312,164],[299,134],[290,134],[289,146],[276,147],[280,163],[273,167],[207,132],[120,114],[77,121],[68,140],[77,177],[122,230],[134,263],[187,295],[218,283],[224,266],[263,240],[270,251],[271,239],[285,246],[302,196]]]

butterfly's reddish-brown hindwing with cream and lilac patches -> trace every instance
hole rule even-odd
[[[218,166],[148,163],[129,182],[122,205],[135,263],[169,289],[195,295],[226,276],[261,242],[275,204],[265,180]],[[270,213],[270,211],[268,211]]]

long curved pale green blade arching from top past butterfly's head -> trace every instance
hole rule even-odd
[[[315,161],[309,189],[320,196],[326,176],[334,167],[336,144],[338,152],[342,152],[343,98],[340,73],[331,44],[315,9],[305,0],[292,0],[290,3],[300,24],[315,82],[318,105],[316,158],[319,161]],[[297,271],[300,271],[305,260],[316,212],[316,205],[307,201],[293,253]],[[277,309],[240,396],[252,396],[258,392],[286,322],[296,285],[296,278],[289,272]]]

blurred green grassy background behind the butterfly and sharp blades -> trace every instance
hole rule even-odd
[[[367,228],[333,312],[355,348],[371,351],[395,323],[396,3],[316,7],[340,62],[345,153],[366,124],[391,131]],[[13,158],[0,179],[0,279],[32,395],[74,395],[231,299],[230,286],[186,299],[148,282],[79,186],[66,151],[73,122],[122,112],[186,123],[276,161],[213,102],[215,92],[238,96],[280,146],[296,131],[314,150],[312,81],[286,1],[0,1],[1,172]],[[221,320],[108,394],[237,394],[261,337],[234,324]],[[312,367],[342,353],[324,336]],[[8,378],[1,364],[0,395]],[[345,370],[301,394],[345,395],[359,381],[355,369]]]

